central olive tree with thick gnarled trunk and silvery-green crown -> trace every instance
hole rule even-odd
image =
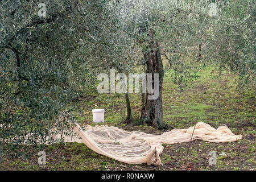
[[[197,6],[195,2],[187,1],[119,1],[117,8],[115,7],[115,12],[119,15],[120,31],[126,32],[136,40],[135,43],[139,45],[143,56],[142,64],[146,64],[147,67],[146,73],[156,73],[159,76],[158,80],[152,76],[152,88],[154,89],[156,81],[159,84],[158,98],[148,99],[148,96],[154,95],[154,93],[145,95],[141,114],[144,123],[159,128],[165,127],[162,107],[164,77],[162,52],[174,51],[179,46],[176,44],[179,39],[183,41],[183,48],[189,39],[197,39],[199,36],[197,31],[205,26],[204,23],[199,23],[199,19],[207,19],[205,9]],[[178,26],[174,26],[176,24]],[[177,28],[181,30],[177,30]],[[174,40],[174,42],[170,42],[170,40]],[[193,43],[195,44],[195,42]]]

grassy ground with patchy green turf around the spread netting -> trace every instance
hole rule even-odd
[[[255,92],[238,91],[236,77],[230,73],[221,76],[211,68],[204,68],[200,78],[180,92],[166,72],[163,85],[163,118],[169,125],[184,129],[199,121],[217,128],[228,126],[234,134],[242,134],[237,142],[210,143],[195,140],[191,143],[163,144],[160,155],[163,166],[131,165],[96,154],[85,144],[67,143],[44,146],[46,166],[38,165],[39,150],[32,146],[20,146],[23,156],[3,154],[0,169],[14,170],[255,170]],[[133,116],[139,117],[141,96],[131,94]],[[138,130],[162,134],[151,126],[125,125],[125,100],[121,94],[86,94],[74,101],[79,122],[92,122],[92,109],[105,109],[105,123],[127,131]],[[91,125],[94,125],[92,123]],[[209,164],[209,152],[216,151],[217,164]]]

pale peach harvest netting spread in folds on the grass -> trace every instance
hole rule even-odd
[[[162,135],[146,134],[139,131],[128,132],[114,126],[86,126],[84,130],[76,124],[77,138],[65,138],[66,142],[83,142],[98,154],[108,156],[128,164],[147,163],[160,165],[159,155],[163,151],[163,143],[173,144],[189,142],[194,127],[174,129]],[[226,126],[214,129],[204,122],[196,123],[192,140],[201,139],[208,142],[234,142],[242,135],[235,135]]]

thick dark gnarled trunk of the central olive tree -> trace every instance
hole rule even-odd
[[[145,103],[142,107],[141,119],[143,123],[162,129],[166,125],[163,121],[163,102],[162,102],[162,89],[163,89],[163,63],[160,56],[159,45],[157,40],[154,40],[154,31],[150,31],[150,40],[148,47],[150,51],[143,51],[143,56],[147,60],[147,73],[152,74],[152,88],[154,88],[154,73],[159,74],[159,95],[155,100],[149,100],[149,95],[154,93],[146,93]]]

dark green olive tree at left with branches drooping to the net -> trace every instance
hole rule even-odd
[[[68,134],[75,122],[70,104],[80,86],[90,85],[90,58],[104,45],[97,40],[105,2],[0,3],[1,140],[44,143],[53,127]]]

